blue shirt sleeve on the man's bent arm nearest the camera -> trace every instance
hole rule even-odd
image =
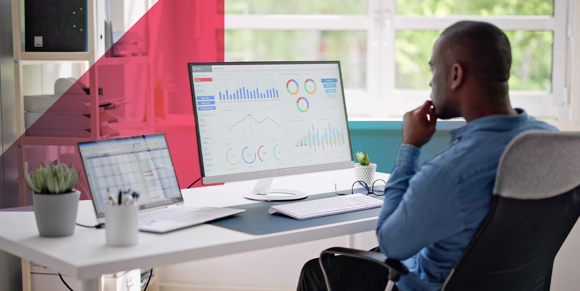
[[[376,228],[380,251],[395,260],[463,229],[454,195],[458,179],[437,158],[416,172],[419,152],[414,145],[399,147]]]

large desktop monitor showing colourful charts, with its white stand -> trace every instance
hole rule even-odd
[[[354,166],[339,61],[188,65],[202,184],[258,179],[246,198],[292,200],[307,194],[273,177]]]

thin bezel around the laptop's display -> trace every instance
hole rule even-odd
[[[81,154],[81,145],[83,145],[83,144],[99,144],[99,143],[110,142],[110,141],[129,140],[129,139],[137,139],[137,138],[146,139],[148,137],[155,137],[155,136],[162,136],[165,139],[165,143],[167,143],[167,151],[169,151],[169,143],[167,142],[167,137],[165,136],[164,132],[151,133],[151,134],[138,134],[136,136],[113,137],[110,139],[101,139],[101,140],[77,141],[78,154],[81,157],[82,169],[85,171],[86,183],[87,183],[88,188],[89,188],[90,199],[93,199],[93,192],[90,189],[89,177],[86,174],[85,161],[84,161],[82,154]],[[171,151],[169,151],[169,157],[171,158]],[[173,164],[173,158],[171,159],[171,163]],[[177,185],[179,185],[179,181],[177,180],[177,173],[175,172],[175,165],[173,165],[173,173],[175,174],[175,180],[177,182]],[[179,188],[179,186],[177,188]],[[151,202],[151,203],[147,203],[147,204],[139,203],[139,210],[154,208],[157,206],[172,205],[175,203],[183,202],[183,195],[181,194],[181,189],[179,189],[179,195],[181,198],[165,198],[162,201]],[[94,201],[93,201],[93,208],[95,209],[97,219],[105,217],[105,210],[103,209],[102,212],[99,212],[99,210],[97,210],[97,205]]]

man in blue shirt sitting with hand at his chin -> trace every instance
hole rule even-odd
[[[455,23],[433,46],[432,100],[403,118],[403,142],[376,229],[380,252],[409,268],[397,282],[400,291],[441,290],[490,209],[506,145],[525,130],[557,130],[512,108],[511,64],[506,35],[489,23]],[[452,132],[449,150],[417,172],[419,150],[433,136],[437,118],[454,117],[467,125]],[[387,277],[374,263],[337,259],[347,290],[385,289]],[[303,267],[298,290],[327,290],[318,259]]]

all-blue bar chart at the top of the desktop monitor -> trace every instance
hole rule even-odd
[[[244,80],[238,82],[236,85],[231,86],[234,88],[231,90],[227,85],[224,90],[218,88],[219,100],[248,100],[248,99],[275,99],[280,98],[280,93],[278,92],[278,86],[274,83],[268,85],[262,85],[259,88],[258,83],[254,86],[248,85]]]

